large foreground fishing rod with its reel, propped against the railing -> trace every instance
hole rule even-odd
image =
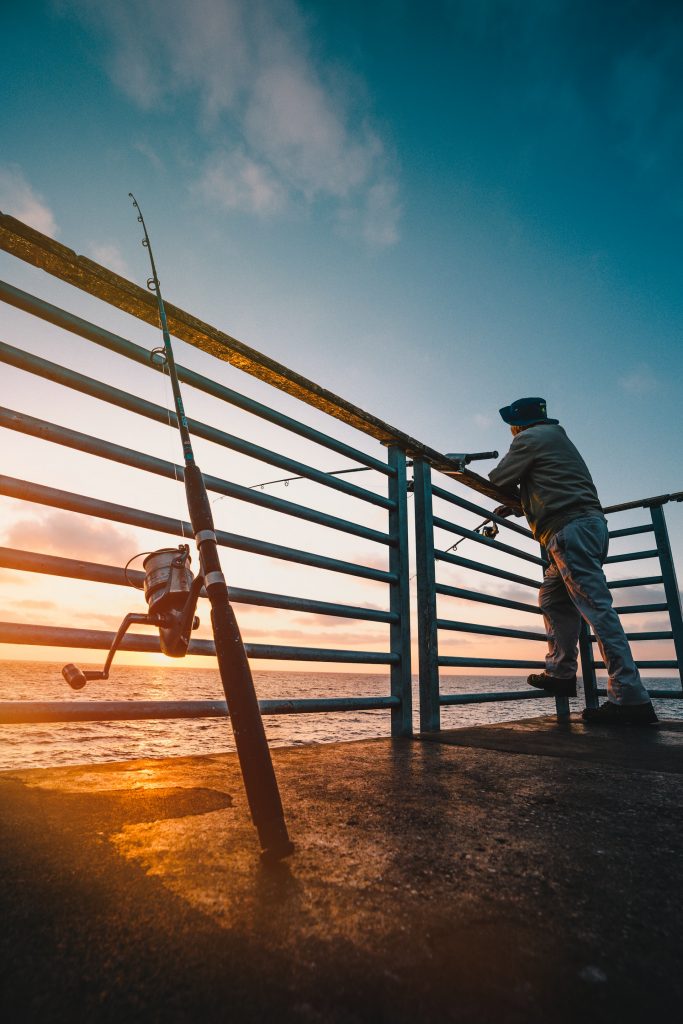
[[[188,566],[187,545],[180,545],[177,549],[164,548],[148,554],[143,567],[146,573],[144,595],[150,605],[150,614],[131,613],[124,618],[102,672],[84,673],[71,665],[66,666],[62,675],[75,689],[84,686],[88,679],[106,679],[114,652],[131,622],[145,622],[158,626],[164,653],[172,657],[182,657],[187,650],[190,630],[199,626],[195,608],[200,591],[204,587],[211,603],[211,625],[218,669],[232,723],[249,808],[261,843],[261,855],[268,860],[280,860],[291,854],[294,846],[287,830],[251,669],[220,566],[211,505],[202,471],[195,462],[150,236],[137,200],[132,193],[128,195],[137,211],[137,219],[142,225],[144,234],[142,246],[147,250],[152,265],[152,276],[147,279],[147,288],[157,296],[164,345],[155,349],[151,353],[151,358],[158,365],[165,365],[171,381],[184,459],[183,479],[187,510],[199,550],[200,572],[194,580]]]

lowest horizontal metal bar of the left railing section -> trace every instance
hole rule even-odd
[[[396,708],[396,696],[304,697],[259,700],[261,715],[319,715]],[[0,725],[41,722],[135,722],[150,719],[229,718],[224,700],[3,700]]]

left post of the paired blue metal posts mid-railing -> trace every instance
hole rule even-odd
[[[398,662],[391,666],[391,695],[400,705],[391,709],[391,735],[410,736],[413,733],[413,676],[411,672],[411,592],[408,552],[408,483],[405,480],[405,453],[391,445],[389,466],[395,475],[389,477],[389,498],[394,507],[389,510],[389,571],[398,579],[389,590],[389,610],[398,615],[389,628],[391,653]]]

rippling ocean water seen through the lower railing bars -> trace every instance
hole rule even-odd
[[[648,679],[656,689],[680,688],[677,679]],[[341,672],[255,672],[262,699],[283,697],[349,697],[386,695],[388,675]],[[446,693],[524,690],[523,677],[450,676]],[[61,664],[0,662],[0,700],[220,700],[223,691],[215,669],[164,669],[115,666],[105,682],[91,682],[74,693],[61,678]],[[417,705],[417,680],[414,701]],[[581,699],[571,710],[580,711]],[[683,719],[683,700],[657,700],[661,717]],[[443,708],[443,728],[513,721],[551,714],[547,698]],[[388,711],[324,715],[281,715],[264,718],[273,746],[328,743],[389,735]],[[417,727],[417,708],[416,708]],[[184,757],[234,750],[227,719],[142,722],[54,723],[0,725],[0,769],[47,768],[69,764],[125,761],[133,758]]]

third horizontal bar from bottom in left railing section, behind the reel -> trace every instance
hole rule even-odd
[[[35,551],[19,551],[16,548],[0,547],[0,568],[19,569],[25,572],[41,572],[71,580],[86,580],[89,583],[109,583],[119,587],[142,590],[144,572],[128,569],[127,573],[118,565],[103,565],[100,562],[86,562],[58,555],[43,555]],[[260,590],[244,590],[228,587],[230,601],[234,604],[253,604],[261,608],[285,608],[291,611],[310,611],[319,615],[334,615],[339,618],[364,618],[371,623],[396,623],[398,615],[379,608],[364,608],[352,604],[335,604],[332,601],[314,601],[287,594],[268,594]],[[200,595],[205,597],[204,590]]]

